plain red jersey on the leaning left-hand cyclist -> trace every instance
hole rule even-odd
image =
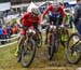
[[[22,17],[22,25],[23,26],[27,26],[30,27],[32,26],[33,23],[36,24],[40,24],[40,17],[39,16],[32,16],[30,12],[26,13],[23,17]]]

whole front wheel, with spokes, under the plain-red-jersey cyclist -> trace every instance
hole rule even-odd
[[[36,44],[35,40],[30,39],[26,43],[24,43],[24,47],[22,50],[22,65],[23,67],[29,67],[35,58],[36,54]]]

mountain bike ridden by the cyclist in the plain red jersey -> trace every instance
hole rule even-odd
[[[29,67],[33,61],[36,54],[36,41],[33,39],[35,34],[35,30],[27,29],[25,39],[23,37],[19,38],[18,61],[21,61],[23,67]]]

